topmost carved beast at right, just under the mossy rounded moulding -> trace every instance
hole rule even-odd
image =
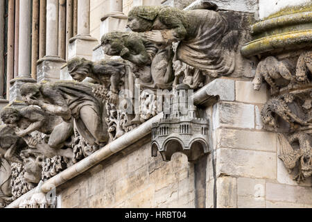
[[[275,84],[275,80],[284,78],[286,80],[294,80],[295,76],[291,74],[290,65],[287,62],[279,61],[274,56],[268,56],[257,67],[256,75],[252,83],[254,84],[254,90],[259,90],[261,83],[264,80],[270,85],[272,93],[279,91],[279,87]]]

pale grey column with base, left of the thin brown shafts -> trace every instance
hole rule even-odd
[[[10,81],[10,102],[21,100],[19,88],[31,78],[31,0],[19,1],[19,76]]]

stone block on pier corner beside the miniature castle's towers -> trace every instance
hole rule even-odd
[[[213,128],[254,128],[254,105],[220,102],[214,109]]]

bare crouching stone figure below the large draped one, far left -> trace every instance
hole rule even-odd
[[[67,140],[73,135],[73,122],[62,121],[62,118],[52,114],[49,111],[44,111],[33,105],[18,110],[17,108],[4,108],[1,111],[1,119],[8,126],[15,129],[18,137],[37,151],[40,151],[45,157],[53,157],[61,155],[72,158],[73,151],[71,148],[63,149]],[[33,144],[31,133],[38,131],[49,135],[48,138],[40,143]]]

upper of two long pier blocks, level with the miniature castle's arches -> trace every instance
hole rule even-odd
[[[277,134],[248,131],[218,129],[218,148],[241,148],[246,150],[271,151],[277,150]]]

